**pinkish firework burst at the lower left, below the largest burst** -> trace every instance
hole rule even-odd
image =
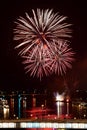
[[[41,48],[40,48],[41,47]],[[50,53],[46,45],[33,48],[27,53],[27,55],[22,56],[24,59],[23,64],[25,64],[26,73],[30,72],[31,76],[37,76],[40,79],[44,75],[49,75],[50,71]],[[32,56],[34,52],[34,55]],[[31,58],[32,57],[32,58]]]

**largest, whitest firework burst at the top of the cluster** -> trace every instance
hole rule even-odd
[[[71,37],[71,30],[68,28],[70,24],[64,23],[67,17],[54,14],[53,10],[40,10],[33,12],[33,18],[26,13],[26,19],[20,17],[16,22],[14,29],[14,40],[22,42],[16,46],[21,48],[19,54],[24,55],[33,46],[46,44],[51,48],[54,40]]]

